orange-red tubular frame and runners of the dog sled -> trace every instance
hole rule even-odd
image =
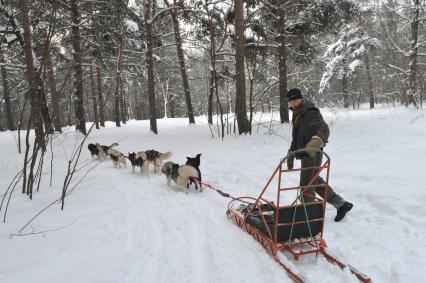
[[[306,152],[307,150],[310,149],[302,149],[302,150],[298,150],[295,151],[293,153],[290,154],[298,154],[298,153],[303,153]],[[312,149],[314,150],[314,149]],[[316,149],[315,151],[318,151],[318,149]],[[260,193],[260,195],[257,198],[253,198],[253,197],[239,197],[239,198],[235,198],[233,199],[229,205],[228,205],[228,210],[226,212],[227,216],[229,219],[231,219],[235,224],[237,224],[240,228],[242,228],[243,230],[245,230],[247,233],[249,233],[250,235],[252,235],[262,246],[263,248],[265,248],[265,250],[270,253],[272,255],[272,257],[274,258],[274,260],[287,272],[288,276],[293,279],[294,282],[304,282],[303,277],[297,275],[296,273],[294,273],[289,267],[287,267],[280,259],[279,259],[279,252],[280,251],[287,251],[289,252],[294,260],[298,260],[300,256],[303,255],[307,255],[307,254],[316,254],[318,256],[318,254],[322,254],[327,261],[329,261],[332,264],[337,265],[338,267],[340,267],[341,269],[345,269],[345,268],[349,268],[350,271],[361,281],[364,283],[369,283],[372,282],[371,279],[363,274],[362,272],[358,271],[356,268],[343,263],[342,261],[338,260],[337,258],[335,258],[334,256],[330,255],[327,251],[327,244],[325,243],[324,239],[323,239],[323,231],[324,231],[324,219],[325,219],[325,208],[326,208],[326,200],[327,200],[327,191],[328,191],[328,179],[329,179],[329,173],[330,173],[330,157],[322,152],[325,157],[326,157],[326,161],[320,165],[319,167],[310,167],[310,168],[296,168],[296,169],[292,169],[292,170],[287,170],[283,168],[283,164],[286,162],[287,158],[289,157],[289,155],[287,155],[285,158],[283,158],[280,163],[278,164],[278,166],[276,167],[275,171],[272,173],[272,176],[269,178],[268,182],[266,183],[265,187],[263,188],[262,192]],[[297,186],[297,187],[282,187],[282,183],[283,183],[283,175],[285,173],[289,173],[289,172],[295,172],[295,171],[303,171],[303,170],[316,170],[316,173],[313,175],[312,179],[310,180],[310,182],[306,185],[306,186]],[[317,179],[317,177],[321,174],[321,172],[325,171],[326,174],[326,178],[324,179],[325,183],[323,185],[313,185],[313,182]],[[276,189],[276,202],[275,204],[273,202],[270,202],[266,199],[263,198],[263,195],[265,194],[265,192],[273,187],[271,185],[273,179],[278,175],[278,187]],[[289,191],[294,191],[295,190],[300,190],[300,194],[298,194],[298,198],[302,203],[302,192],[304,192],[304,190],[306,189],[312,189],[315,187],[321,187],[322,189],[324,189],[324,196],[325,198],[322,199],[318,196],[312,196],[315,198],[315,202],[310,202],[310,203],[305,203],[306,206],[308,205],[322,205],[323,209],[322,209],[322,217],[321,218],[317,218],[317,219],[306,219],[304,221],[298,221],[298,222],[294,222],[293,219],[293,223],[279,223],[278,221],[278,216],[279,216],[279,211],[280,209],[288,209],[288,208],[294,208],[297,204],[297,199],[295,201],[293,201],[293,203],[291,203],[290,205],[280,205],[280,197],[281,194],[284,192],[289,192]],[[308,195],[306,192],[304,193],[305,195]],[[245,215],[243,213],[241,213],[240,211],[238,211],[235,208],[236,202],[237,201],[242,201],[242,202],[248,202],[248,203],[252,203],[254,201],[254,204],[251,206],[251,208],[248,210],[248,213],[246,213]],[[267,204],[270,207],[273,207],[274,211],[274,217],[275,217],[275,222],[274,223],[278,223],[275,225],[275,229],[274,231],[271,231],[271,229],[269,228],[267,221],[263,215],[262,212],[262,205]],[[257,210],[260,213],[261,216],[261,220],[263,222],[264,227],[267,230],[267,233],[262,233],[257,227],[247,223],[247,217],[249,217],[253,211]],[[306,211],[306,210],[305,210]],[[316,235],[315,237],[307,237],[307,238],[302,238],[302,239],[291,239],[291,233],[290,233],[290,240],[285,241],[285,242],[280,242],[278,241],[278,228],[281,226],[288,226],[288,225],[295,225],[295,224],[303,224],[303,223],[308,223],[308,225],[312,225],[314,222],[320,222],[321,224],[321,229],[318,235]],[[265,235],[266,234],[266,235]]]

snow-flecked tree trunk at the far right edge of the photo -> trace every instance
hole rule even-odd
[[[417,107],[416,92],[417,92],[417,53],[419,47],[417,45],[419,38],[419,13],[420,13],[420,0],[413,0],[415,11],[411,21],[411,52],[410,52],[410,73],[409,73],[409,93],[407,94],[407,103],[413,103]]]

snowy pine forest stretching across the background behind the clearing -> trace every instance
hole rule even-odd
[[[420,108],[425,20],[421,0],[2,0],[0,130],[204,115],[223,137],[288,122],[291,87]]]

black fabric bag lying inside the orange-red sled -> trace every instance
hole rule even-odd
[[[262,214],[269,226],[269,229],[272,233],[272,238],[275,236],[275,207],[269,204],[263,204],[261,206]],[[296,215],[294,215],[296,211]],[[306,205],[306,214],[308,215],[309,221],[317,220],[314,222],[310,222],[310,228],[312,237],[315,237],[321,232],[321,227],[323,224],[323,204],[311,204]],[[286,242],[290,238],[290,231],[291,231],[291,223],[293,222],[300,222],[300,221],[307,221],[305,214],[305,209],[303,208],[303,205],[299,204],[293,207],[286,207],[286,208],[280,208],[279,209],[279,215],[278,215],[278,223],[280,224],[287,224],[284,226],[278,227],[278,235],[277,235],[277,241],[278,242]],[[319,220],[321,219],[321,220]],[[260,215],[260,211],[258,209],[255,209],[250,213],[250,215],[247,217],[246,222],[255,228],[257,228],[263,235],[266,237],[270,237],[268,230],[266,229],[262,216]],[[309,233],[309,227],[308,223],[299,223],[299,224],[293,224],[293,231],[291,233],[291,239],[296,238],[305,238],[310,237]]]

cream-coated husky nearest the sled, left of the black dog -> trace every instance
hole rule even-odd
[[[189,192],[188,183],[190,178],[198,179],[197,170],[189,165],[182,165],[168,161],[164,163],[161,172],[167,177],[167,185],[170,186],[173,180],[176,185],[184,192]]]

